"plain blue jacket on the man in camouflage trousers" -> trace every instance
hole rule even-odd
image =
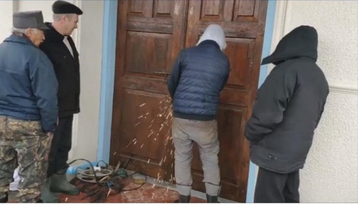
[[[0,44],[0,115],[41,120],[44,132],[54,131],[57,86],[50,60],[29,39],[11,35]]]

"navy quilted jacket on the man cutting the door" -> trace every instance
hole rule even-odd
[[[214,120],[229,72],[229,59],[213,40],[181,50],[168,81],[174,117]]]

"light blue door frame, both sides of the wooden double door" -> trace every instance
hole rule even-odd
[[[103,38],[102,38],[102,68],[101,92],[99,107],[99,133],[97,146],[97,161],[109,161],[110,136],[112,127],[112,107],[115,72],[115,48],[117,32],[117,0],[104,1]],[[276,0],[269,0],[262,58],[270,53],[275,18]],[[259,87],[268,73],[268,65],[260,67]],[[250,161],[246,203],[253,203],[258,166]]]

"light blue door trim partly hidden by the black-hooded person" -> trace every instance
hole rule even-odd
[[[276,10],[276,0],[269,0],[267,16],[266,16],[262,59],[270,54],[275,10]],[[268,73],[268,65],[261,66],[260,76],[259,76],[259,87],[261,86],[261,84],[264,83],[267,73]],[[250,161],[246,203],[254,203],[254,193],[255,193],[256,176],[257,176],[258,169],[259,167]]]

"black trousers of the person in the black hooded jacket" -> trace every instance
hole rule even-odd
[[[259,169],[254,203],[299,203],[299,170],[279,174]]]

